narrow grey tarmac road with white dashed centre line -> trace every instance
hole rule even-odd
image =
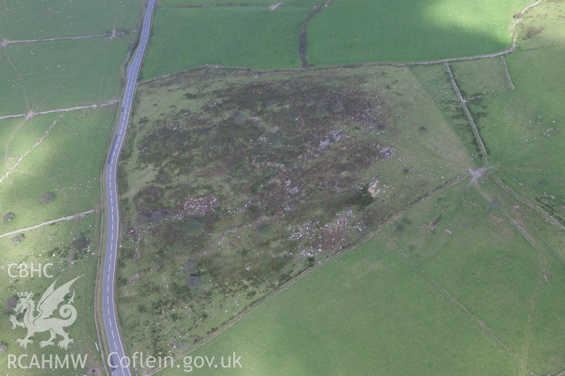
[[[106,169],[106,256],[104,259],[104,274],[102,275],[102,316],[104,320],[104,328],[106,330],[106,338],[110,348],[109,365],[112,375],[131,376],[128,362],[124,361],[120,364],[120,359],[125,355],[124,346],[121,342],[118,323],[116,322],[115,300],[114,300],[114,278],[116,270],[116,251],[118,250],[119,237],[119,214],[118,214],[118,194],[116,188],[116,163],[118,162],[118,154],[120,153],[121,144],[124,142],[125,129],[128,125],[129,113],[132,109],[133,91],[136,86],[137,73],[139,71],[141,60],[149,38],[149,28],[151,23],[151,14],[155,0],[149,0],[147,11],[145,12],[143,29],[141,30],[140,43],[132,63],[127,69],[128,84],[125,87],[125,95],[123,107],[121,108],[120,120],[118,122],[118,130],[114,138],[114,143],[110,149],[108,156],[108,165]]]

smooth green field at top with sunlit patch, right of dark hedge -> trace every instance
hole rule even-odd
[[[512,15],[528,0],[334,0],[306,28],[314,65],[424,61],[510,47]]]

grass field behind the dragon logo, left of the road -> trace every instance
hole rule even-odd
[[[46,225],[37,229],[24,232],[25,238],[20,244],[13,244],[10,237],[0,238],[0,253],[2,254],[2,265],[0,266],[2,273],[0,273],[0,311],[2,312],[2,328],[0,334],[0,342],[7,344],[5,353],[0,354],[0,369],[4,370],[10,375],[37,375],[48,374],[51,369],[45,370],[32,369],[8,369],[8,354],[20,356],[21,354],[37,354],[41,364],[41,354],[44,353],[49,358],[49,355],[59,355],[63,358],[66,354],[72,353],[88,355],[86,359],[85,369],[78,371],[74,369],[57,369],[58,375],[76,375],[76,374],[90,374],[95,370],[94,374],[101,374],[102,359],[99,351],[95,346],[98,342],[98,336],[94,324],[94,280],[95,270],[98,262],[98,255],[95,255],[96,247],[98,245],[100,215],[89,214],[82,219],[63,221]],[[73,244],[75,239],[79,237],[88,237],[90,239],[90,246],[81,251],[74,249]],[[53,267],[47,269],[53,278],[37,276],[30,278],[11,278],[8,275],[8,264],[10,263],[33,263],[37,267],[38,263],[45,265],[52,263]],[[12,273],[18,274],[18,270],[12,268]],[[33,337],[33,343],[28,345],[27,349],[20,348],[16,339],[24,338],[27,330],[24,328],[12,329],[12,324],[8,317],[15,312],[12,309],[6,309],[6,300],[13,297],[20,291],[34,291],[34,300],[37,300],[44,293],[46,288],[59,277],[55,285],[66,283],[67,281],[81,276],[73,287],[75,288],[76,296],[74,299],[74,306],[77,310],[77,319],[75,323],[66,331],[69,337],[74,339],[75,342],[71,344],[68,350],[62,350],[57,347],[57,342],[61,337],[55,340],[55,346],[47,346],[40,348],[40,341],[49,338],[48,332],[36,333]],[[36,313],[37,314],[37,313]],[[22,321],[21,315],[18,321]],[[100,343],[98,342],[98,346]],[[23,363],[29,363],[31,359],[24,358]],[[70,361],[69,361],[70,362]],[[17,363],[16,363],[17,364]],[[54,367],[54,364],[53,364]]]

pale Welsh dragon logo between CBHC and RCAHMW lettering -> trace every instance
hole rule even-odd
[[[59,308],[59,315],[66,320],[51,317],[51,315],[53,315],[59,303],[64,302],[65,295],[71,293],[71,285],[80,277],[81,276],[76,277],[74,280],[67,282],[55,290],[55,283],[59,280],[59,278],[57,278],[45,291],[41,299],[39,299],[37,307],[32,300],[32,292],[28,293],[28,291],[25,291],[25,293],[18,293],[20,300],[18,300],[14,311],[16,311],[18,315],[25,311],[24,321],[17,321],[16,315],[11,315],[10,321],[13,324],[12,329],[16,329],[16,326],[28,329],[28,334],[24,338],[16,340],[16,342],[20,344],[20,347],[27,348],[28,343],[33,343],[31,337],[33,337],[35,333],[41,333],[47,330],[49,330],[51,337],[47,340],[42,340],[40,347],[54,345],[53,340],[56,334],[63,337],[58,343],[60,348],[68,348],[71,342],[75,342],[72,338],[69,338],[68,333],[63,330],[66,326],[71,326],[76,320],[76,308],[71,305],[71,303],[74,303],[75,289],[72,289],[72,297],[67,301],[67,304],[63,304]]]

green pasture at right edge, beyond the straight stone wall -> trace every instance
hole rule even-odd
[[[497,175],[565,224],[565,180],[560,173],[565,163],[561,100],[565,69],[560,64],[565,59],[563,12],[563,6],[553,2],[542,2],[532,14],[527,12],[522,30],[533,23],[540,33],[520,39],[520,47],[506,56],[515,89],[507,90],[507,83],[500,82],[504,91],[470,100],[468,105],[490,152],[490,165],[499,165]],[[472,73],[475,63],[470,63],[457,63],[454,73]],[[462,89],[474,92],[475,85],[482,85],[481,76],[488,77],[491,70],[475,75],[475,83],[460,82]],[[499,72],[499,68],[493,70]]]

